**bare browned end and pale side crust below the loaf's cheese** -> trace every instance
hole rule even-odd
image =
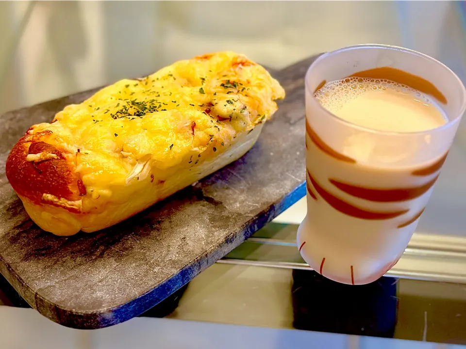
[[[32,161],[26,160],[29,154],[26,149],[31,148],[26,144],[28,139],[25,139],[25,137],[27,135],[15,145],[7,160],[7,177],[23,202],[26,212],[40,228],[59,236],[74,235],[80,230],[90,233],[124,221],[241,158],[256,143],[262,127],[263,124],[259,124],[251,131],[238,134],[228,149],[216,152],[215,155],[204,159],[198,165],[190,168],[170,169],[171,175],[166,176],[165,181],[154,180],[154,175],[151,173],[154,169],[150,166],[150,159],[148,159],[147,164],[142,166],[138,173],[138,180],[126,184],[133,187],[131,188],[132,199],[126,202],[115,202],[110,198],[103,207],[99,207],[96,213],[82,212],[83,188],[80,189],[79,175],[74,172],[73,164],[69,159],[63,159],[66,161],[65,166],[64,162],[57,162],[62,161],[61,158],[55,159],[48,156],[50,159],[44,160],[44,164],[41,165],[44,168],[42,173],[36,173],[33,165],[31,165]],[[43,147],[38,147],[34,150],[33,147],[33,150],[38,153],[42,149]],[[50,150],[52,149],[50,148]],[[56,150],[53,154],[58,152]],[[63,153],[63,151],[61,152]],[[60,155],[57,154],[57,156]],[[66,158],[63,154],[61,156]],[[38,166],[40,163],[35,165]],[[57,167],[57,165],[61,167]],[[53,168],[61,170],[52,173]],[[37,177],[38,175],[39,177]],[[46,175],[50,176],[47,177]],[[156,177],[165,176],[158,173]],[[35,179],[34,182],[34,178],[40,180]],[[24,181],[31,183],[26,184]],[[54,183],[59,185],[44,197],[44,191],[40,190],[40,185],[43,183],[48,184],[50,187]],[[47,188],[50,189],[50,187]]]

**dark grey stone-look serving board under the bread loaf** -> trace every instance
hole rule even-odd
[[[126,321],[187,284],[305,195],[304,74],[313,58],[269,70],[286,91],[241,159],[97,233],[56,237],[29,219],[5,176],[33,124],[97,89],[0,116],[0,272],[39,313],[95,329]]]

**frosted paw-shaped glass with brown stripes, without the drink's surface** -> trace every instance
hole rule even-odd
[[[426,93],[448,122],[418,132],[373,130],[333,115],[314,96],[326,81],[375,71],[375,78]],[[465,111],[465,86],[419,52],[357,45],[317,58],[305,76],[305,95],[307,215],[298,248],[331,280],[373,282],[398,262],[416,229]]]

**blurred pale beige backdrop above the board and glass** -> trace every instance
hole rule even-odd
[[[234,50],[273,68],[381,43],[466,79],[464,1],[1,1],[0,112]]]

